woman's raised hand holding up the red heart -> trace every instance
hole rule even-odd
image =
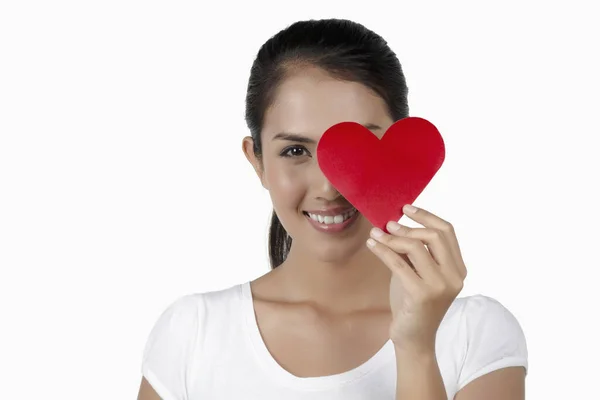
[[[390,338],[397,348],[435,350],[437,330],[463,288],[467,269],[453,226],[423,209],[404,215],[424,228],[391,221],[371,231],[367,245],[392,271]],[[427,246],[427,247],[425,247]]]

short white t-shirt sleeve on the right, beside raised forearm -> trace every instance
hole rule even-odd
[[[527,374],[525,334],[516,317],[497,300],[470,296],[465,304],[466,353],[457,390],[489,372],[522,366]]]

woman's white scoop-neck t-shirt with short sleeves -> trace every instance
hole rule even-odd
[[[483,295],[455,299],[438,329],[436,357],[448,399],[488,372],[528,368],[519,322]],[[396,392],[391,340],[344,373],[302,378],[283,369],[262,340],[250,282],[174,301],[150,332],[142,373],[163,400],[393,400]]]

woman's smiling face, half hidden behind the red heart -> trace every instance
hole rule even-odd
[[[265,113],[262,162],[252,153],[252,140],[244,140],[244,151],[293,239],[292,252],[330,262],[365,251],[372,228],[317,163],[321,135],[343,121],[360,123],[379,138],[393,124],[383,99],[366,86],[306,68],[282,82]]]

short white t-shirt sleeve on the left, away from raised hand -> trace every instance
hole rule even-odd
[[[154,323],[142,374],[163,400],[187,400],[187,372],[199,332],[200,294],[180,297]]]

